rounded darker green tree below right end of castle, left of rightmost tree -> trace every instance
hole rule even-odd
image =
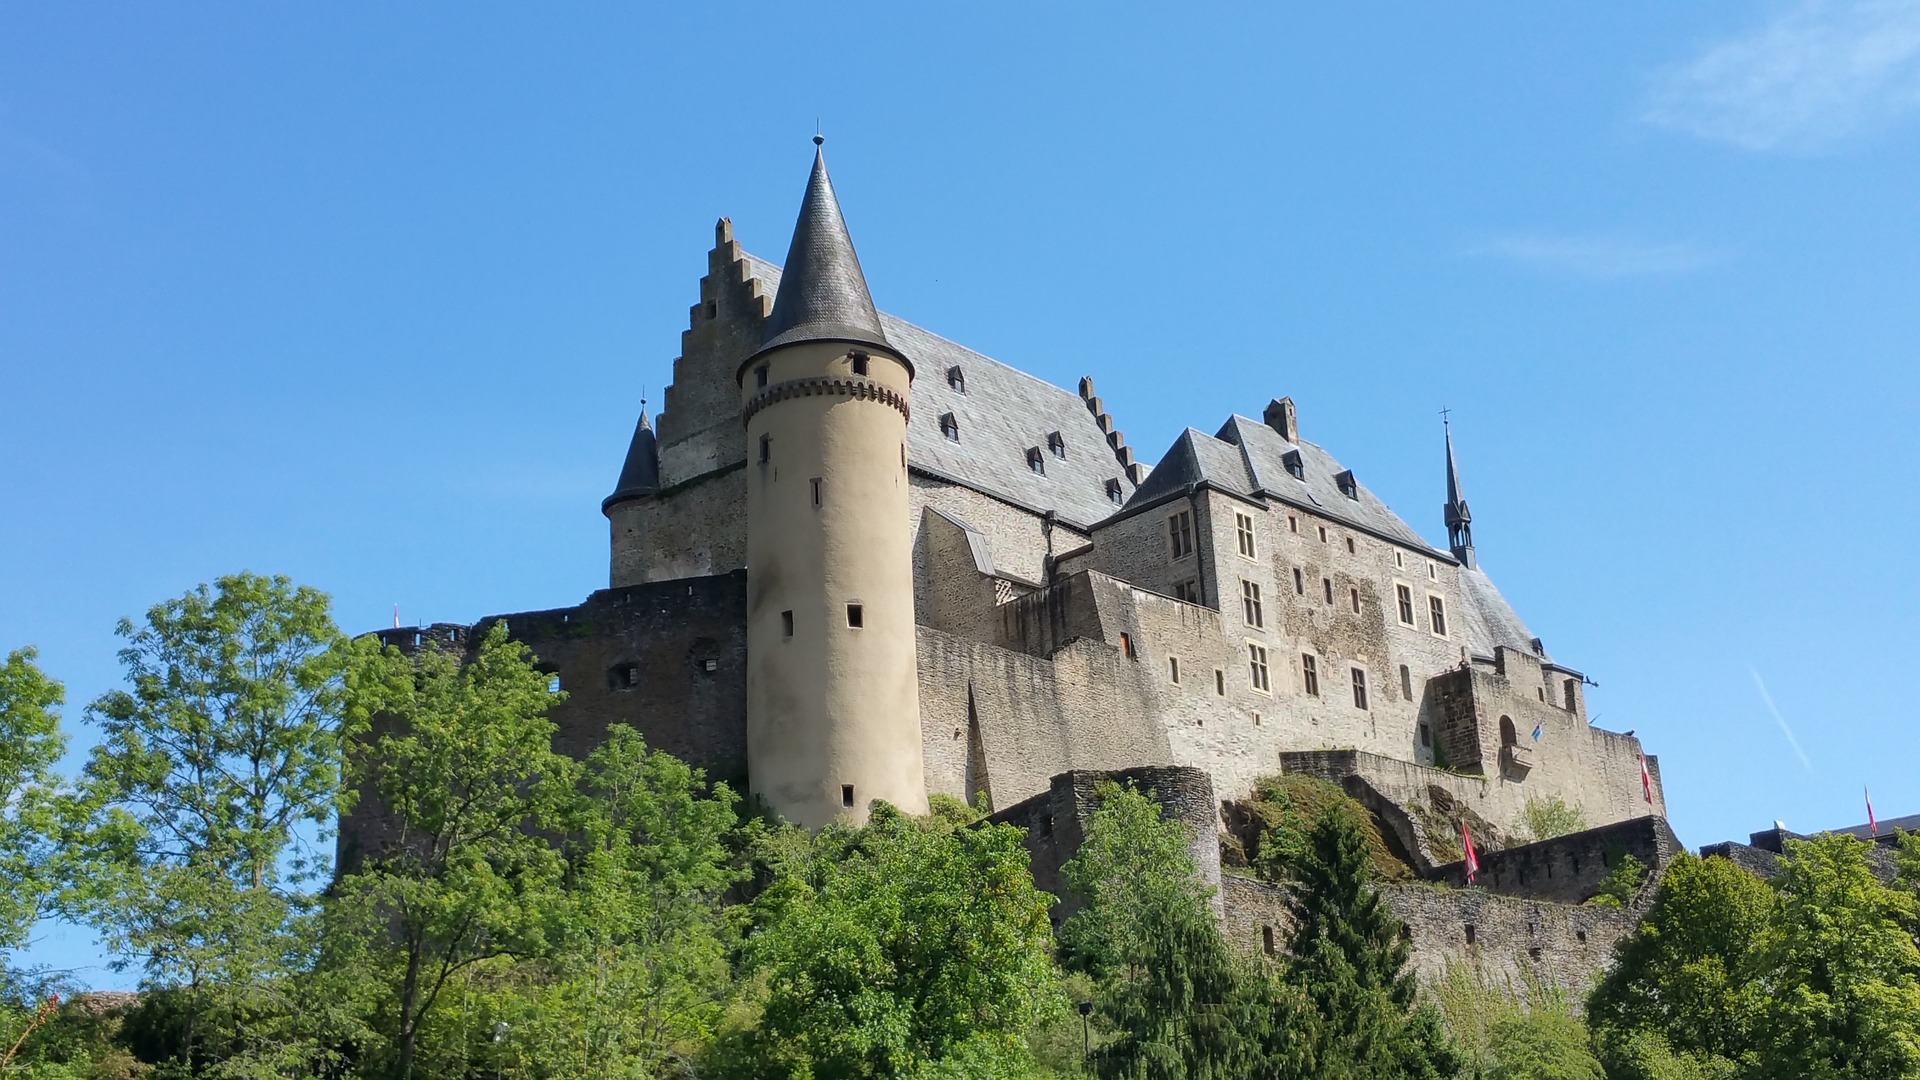
[[[1705,1063],[1741,1061],[1766,997],[1759,951],[1774,932],[1774,890],[1726,859],[1682,853],[1668,863],[1645,917],[1588,999],[1603,1057],[1611,1063],[1611,1043],[1649,1032]],[[1642,1040],[1634,1053],[1657,1057],[1647,1045]]]

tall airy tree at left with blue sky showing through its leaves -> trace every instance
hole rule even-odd
[[[346,642],[324,594],[250,573],[117,632],[127,688],[88,709],[84,782],[111,807],[90,919],[150,986],[188,988],[190,1055],[275,1068],[296,1053],[278,1019],[311,949],[305,842],[338,796]]]

